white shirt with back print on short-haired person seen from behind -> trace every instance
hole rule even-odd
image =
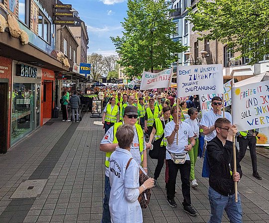
[[[126,170],[131,157],[131,152],[120,147],[117,147],[110,157],[109,210],[112,223],[143,222],[142,210],[137,200],[139,196],[139,166],[134,159],[131,160]]]

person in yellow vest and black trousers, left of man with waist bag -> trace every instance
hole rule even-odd
[[[150,147],[153,138],[155,138],[155,141],[152,143],[153,149],[158,151],[157,152],[158,162],[154,171],[155,180],[158,179],[161,169],[164,164],[164,159],[165,159],[165,154],[166,154],[166,144],[167,144],[167,140],[166,138],[164,138],[164,128],[166,124],[172,120],[170,118],[171,116],[170,111],[171,111],[171,108],[169,106],[162,108],[163,115],[161,117],[155,118],[154,123],[153,123],[153,128],[149,136],[149,141],[147,143],[147,147]]]

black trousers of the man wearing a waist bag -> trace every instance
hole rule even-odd
[[[190,198],[190,160],[186,160],[184,164],[175,164],[171,159],[167,160],[169,168],[169,179],[167,184],[167,199],[175,197],[175,184],[178,170],[180,172],[181,190],[183,195],[183,206],[191,204]]]

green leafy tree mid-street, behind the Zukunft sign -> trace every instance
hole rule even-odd
[[[169,11],[166,0],[128,0],[123,36],[111,37],[127,76],[168,68],[177,60],[174,53],[187,49],[170,38],[175,24],[168,18]]]

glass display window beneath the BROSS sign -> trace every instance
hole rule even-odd
[[[11,144],[34,128],[34,84],[13,84]]]

